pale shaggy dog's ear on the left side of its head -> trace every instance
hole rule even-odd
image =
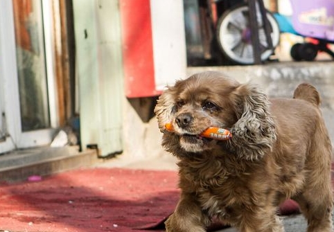
[[[161,93],[155,106],[155,114],[161,132],[164,132],[166,123],[171,121],[174,104],[173,90],[169,87]]]

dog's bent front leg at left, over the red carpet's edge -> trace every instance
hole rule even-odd
[[[191,194],[182,193],[172,215],[166,220],[167,232],[205,232],[209,218]]]

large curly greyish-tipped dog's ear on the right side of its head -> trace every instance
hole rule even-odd
[[[270,115],[270,102],[263,91],[242,84],[231,95],[238,121],[231,128],[231,150],[240,158],[261,159],[276,141],[276,129]]]

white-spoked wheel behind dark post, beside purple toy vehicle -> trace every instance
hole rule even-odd
[[[238,64],[254,64],[254,51],[249,27],[249,12],[247,5],[237,6],[225,12],[217,24],[217,37],[224,53],[229,60]],[[256,16],[258,20],[258,37],[261,44],[261,60],[267,60],[274,48],[279,44],[279,25],[270,12],[267,19],[270,23],[273,49],[267,48],[265,30],[260,13]]]

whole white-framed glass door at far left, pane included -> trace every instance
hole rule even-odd
[[[53,55],[44,49],[51,30],[42,18],[52,15],[42,10],[41,0],[0,1],[0,153],[47,145],[57,126]]]

